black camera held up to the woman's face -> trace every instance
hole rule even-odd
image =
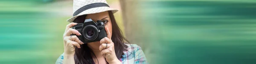
[[[81,35],[76,36],[80,41],[84,42],[84,44],[100,41],[102,38],[107,37],[105,24],[101,20],[97,20],[95,23],[92,19],[86,19],[84,20],[84,23],[78,23],[71,28],[76,29],[81,33]]]

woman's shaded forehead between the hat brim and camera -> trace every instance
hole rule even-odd
[[[85,18],[92,20],[101,20],[102,18],[109,17],[108,12],[100,12],[95,14],[88,14]]]

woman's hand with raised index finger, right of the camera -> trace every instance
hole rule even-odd
[[[101,51],[101,55],[106,58],[109,64],[122,64],[121,61],[116,57],[114,43],[111,40],[111,33],[108,29],[108,26],[105,27],[107,37],[102,38],[99,46],[99,50]]]

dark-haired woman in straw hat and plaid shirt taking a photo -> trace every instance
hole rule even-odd
[[[128,44],[121,34],[113,16],[117,11],[105,0],[74,0],[73,17],[67,20],[71,23],[63,35],[64,53],[56,64],[148,64],[142,49],[136,44]],[[87,44],[80,41],[76,35],[81,33],[70,27],[84,23],[85,19],[101,20],[107,37]]]

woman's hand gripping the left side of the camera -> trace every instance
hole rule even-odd
[[[84,44],[82,41],[77,38],[76,35],[81,35],[76,29],[72,29],[70,27],[76,25],[77,23],[69,23],[65,29],[63,34],[64,41],[64,55],[75,55],[75,46],[77,48],[81,48],[80,44]],[[71,35],[76,34],[76,35]]]

